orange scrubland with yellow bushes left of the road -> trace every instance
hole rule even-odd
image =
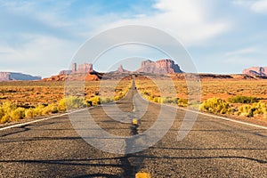
[[[109,97],[101,96],[100,81],[93,81],[85,84],[85,96],[63,98],[63,82],[1,82],[0,123],[47,116],[66,109],[80,109],[119,100],[127,93],[131,80],[116,83],[115,92],[113,84],[114,81],[108,81],[107,84],[101,85]]]

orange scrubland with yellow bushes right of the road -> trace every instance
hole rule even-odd
[[[135,81],[139,92],[149,101],[267,121],[266,79],[201,78],[196,82],[201,88],[198,100],[188,100],[189,94],[197,91],[194,85],[189,89],[185,80],[176,79],[172,83],[164,78],[156,81],[150,77],[136,77]]]

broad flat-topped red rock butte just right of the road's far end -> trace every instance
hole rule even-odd
[[[142,61],[141,69],[137,69],[137,72],[152,73],[152,74],[174,74],[182,73],[182,69],[175,64],[172,60],[160,60],[160,61]]]

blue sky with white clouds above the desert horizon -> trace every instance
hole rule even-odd
[[[50,77],[69,68],[86,40],[133,24],[177,38],[200,73],[267,66],[267,0],[0,0],[0,71]],[[151,60],[165,57],[147,51]],[[111,56],[94,68],[110,69]]]

